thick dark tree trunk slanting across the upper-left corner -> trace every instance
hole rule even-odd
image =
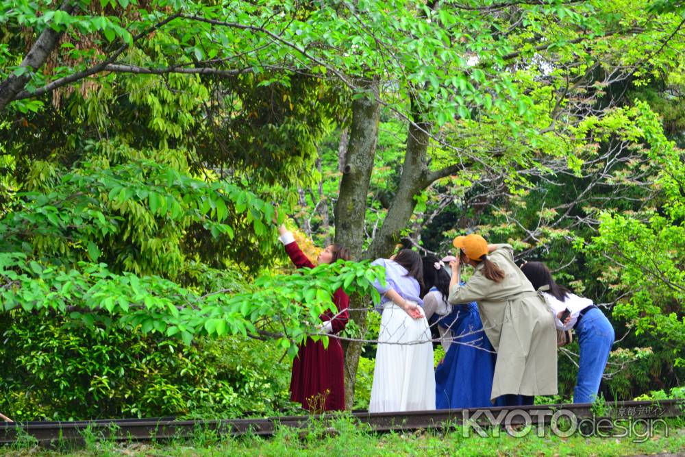
[[[60,10],[71,13],[74,9],[73,1],[64,0],[60,5]],[[10,75],[0,83],[0,112],[3,111],[14,97],[24,90],[27,82],[31,79],[32,71],[40,69],[45,63],[45,60],[52,53],[57,46],[63,32],[55,32],[49,25],[42,31],[38,40],[31,47],[31,50],[19,64],[19,68],[24,69],[25,73],[22,75]]]

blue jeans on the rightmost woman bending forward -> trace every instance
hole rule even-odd
[[[592,403],[597,397],[601,375],[614,344],[614,328],[598,308],[593,308],[580,319],[575,334],[580,345],[580,367],[573,403]]]

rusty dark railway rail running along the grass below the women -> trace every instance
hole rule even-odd
[[[468,421],[481,427],[491,425],[549,424],[552,420],[567,417],[582,421],[597,419],[662,419],[685,417],[685,400],[650,402],[615,402],[606,404],[600,415],[591,404],[554,404],[535,406],[507,406],[469,410],[431,410],[401,413],[352,412],[360,424],[377,432],[391,430],[444,430]],[[0,443],[14,443],[21,435],[31,435],[39,443],[56,441],[82,441],[90,433],[114,441],[150,441],[153,439],[188,438],[199,430],[219,434],[256,434],[270,436],[282,426],[307,428],[312,421],[321,421],[332,415],[266,417],[262,419],[176,420],[173,417],[150,419],[101,419],[92,421],[35,421],[0,423]]]

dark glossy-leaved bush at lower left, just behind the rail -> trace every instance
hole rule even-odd
[[[292,407],[290,363],[249,338],[85,328],[0,314],[0,411],[14,420],[237,417]]]

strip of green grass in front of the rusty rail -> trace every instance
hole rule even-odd
[[[328,427],[328,428],[327,428]],[[57,450],[37,447],[30,441],[0,448],[5,456],[630,456],[677,453],[685,449],[684,421],[669,421],[669,436],[660,434],[645,441],[636,438],[569,438],[553,436],[549,429],[539,437],[533,430],[514,438],[500,431],[499,436],[462,436],[451,432],[423,431],[375,434],[343,418],[329,425],[315,423],[308,430],[281,428],[273,438],[243,436],[230,438],[199,431],[192,439],[166,443],[115,443],[85,436],[80,449],[68,445]],[[490,431],[490,434],[497,432]]]

